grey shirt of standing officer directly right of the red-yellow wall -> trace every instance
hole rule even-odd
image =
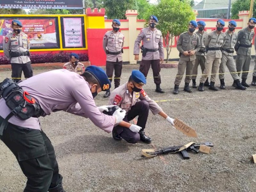
[[[105,53],[110,52],[119,52],[124,46],[124,34],[121,32],[113,33],[113,31],[105,33],[103,37],[103,49]],[[106,48],[107,47],[107,48]],[[107,54],[107,61],[116,62],[116,58],[118,61],[123,60],[122,53],[118,55]]]

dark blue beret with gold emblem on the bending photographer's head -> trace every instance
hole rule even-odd
[[[91,73],[99,81],[102,91],[108,91],[111,88],[111,82],[102,68],[91,65],[85,68],[85,71]]]

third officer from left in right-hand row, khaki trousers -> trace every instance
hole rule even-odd
[[[206,81],[207,74],[212,72],[211,82],[209,89],[218,91],[219,89],[214,86],[216,80],[216,74],[219,72],[222,52],[220,50],[226,41],[226,35],[222,32],[225,22],[223,20],[217,20],[217,30],[212,31],[208,34],[205,40],[206,47],[206,64],[203,75],[200,78],[200,84],[198,91],[204,91],[204,82]]]

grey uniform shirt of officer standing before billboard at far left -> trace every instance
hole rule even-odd
[[[10,52],[26,52],[29,51],[30,43],[28,36],[20,32],[20,35],[16,36],[14,32],[9,33],[5,36],[4,42],[3,42],[3,48],[4,48],[4,55],[7,58],[7,60],[11,60],[11,63],[27,63],[30,61],[28,56],[19,56],[19,57],[12,57],[10,56]]]

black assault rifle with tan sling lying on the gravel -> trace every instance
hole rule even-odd
[[[213,147],[214,145],[207,141],[204,143],[193,143],[190,142],[187,145],[180,145],[180,146],[173,146],[173,147],[167,147],[167,148],[160,148],[160,149],[142,149],[141,156],[142,157],[154,157],[161,154],[167,154],[167,153],[181,153],[183,156],[183,159],[189,159],[188,151],[194,151],[196,153],[199,152],[200,145],[205,145],[208,147]]]

